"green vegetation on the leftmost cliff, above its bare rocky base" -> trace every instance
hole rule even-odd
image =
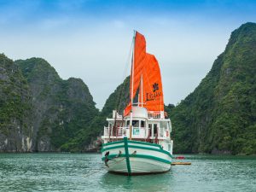
[[[26,79],[14,61],[0,54],[0,134],[10,137],[18,127],[29,134],[31,107]]]

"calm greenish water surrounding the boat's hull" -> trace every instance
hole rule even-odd
[[[0,154],[0,191],[256,191],[256,157],[185,155],[191,166],[126,177],[100,154]]]

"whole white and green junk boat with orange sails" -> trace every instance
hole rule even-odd
[[[164,109],[160,67],[146,52],[142,34],[132,40],[130,101],[113,110],[102,136],[108,172],[139,175],[168,172],[172,164],[172,124]]]

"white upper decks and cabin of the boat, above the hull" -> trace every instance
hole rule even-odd
[[[122,117],[113,111],[113,117],[108,118],[108,126],[104,127],[104,140],[116,140],[123,137],[155,143],[156,140],[170,140],[172,132],[171,120],[165,113],[148,112],[146,108],[132,108],[132,123],[130,134],[130,116]],[[107,142],[107,141],[106,141]]]

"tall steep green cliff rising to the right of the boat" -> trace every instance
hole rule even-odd
[[[224,53],[172,118],[175,152],[256,154],[256,24],[232,32]]]

